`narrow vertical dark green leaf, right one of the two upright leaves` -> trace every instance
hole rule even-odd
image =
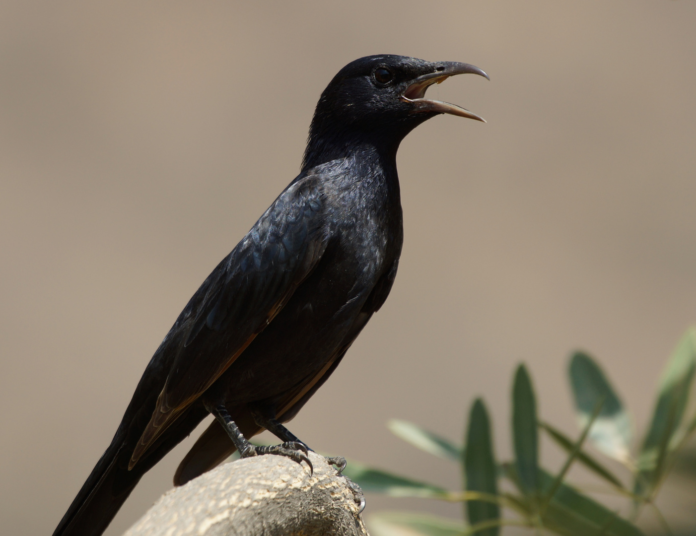
[[[537,402],[527,369],[519,365],[512,387],[512,436],[520,491],[538,496]]]

